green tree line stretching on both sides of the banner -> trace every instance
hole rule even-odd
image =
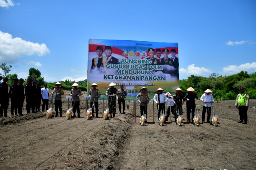
[[[18,77],[17,74],[9,74],[12,66],[6,65],[6,63],[2,63],[0,65],[1,69],[4,72],[3,76],[8,76],[9,86],[13,83],[14,78],[23,78]],[[1,74],[0,74],[1,75]],[[24,78],[26,82],[28,82],[28,78],[32,77],[34,80],[40,82],[41,87],[44,87],[44,83],[48,84],[48,89],[54,89],[54,84],[56,82],[45,82],[44,78],[41,77],[41,72],[38,69],[30,68],[29,76]],[[71,90],[72,84],[75,81],[65,80],[59,81],[62,84],[62,88],[64,90]],[[79,88],[82,91],[87,91],[87,80],[82,80],[76,82],[79,84]],[[26,83],[24,83],[24,86]],[[220,76],[217,73],[210,74],[209,77],[201,77],[191,75],[187,79],[180,80],[180,88],[183,90],[183,93],[186,93],[186,89],[189,87],[193,87],[196,91],[195,93],[200,97],[206,89],[212,90],[212,95],[214,96],[216,101],[221,100],[233,100],[236,99],[237,94],[239,93],[239,88],[244,87],[245,92],[250,95],[251,99],[256,98],[256,72],[252,74],[248,74],[247,71],[241,71],[238,74],[233,74],[230,76]]]

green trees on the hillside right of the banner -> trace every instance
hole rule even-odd
[[[212,95],[216,101],[236,99],[239,88],[244,87],[245,92],[251,99],[256,98],[256,72],[248,74],[241,71],[230,76],[219,76],[217,73],[210,74],[209,77],[191,75],[187,79],[180,80],[180,88],[183,92],[193,87],[195,93],[200,97],[206,89],[212,90]]]

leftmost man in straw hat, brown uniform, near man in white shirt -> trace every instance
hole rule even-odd
[[[61,95],[64,94],[63,89],[60,88],[61,84],[59,82],[55,83],[54,86],[56,88],[53,89],[52,94],[55,94],[54,98],[54,105],[55,105],[55,117],[62,117],[62,103],[61,103]],[[58,115],[58,109],[59,109],[59,115]]]

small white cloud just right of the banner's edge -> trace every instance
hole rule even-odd
[[[186,75],[205,75],[206,73],[212,73],[211,69],[204,68],[204,67],[195,67],[195,64],[191,64],[187,66],[187,68],[180,68],[180,74]]]

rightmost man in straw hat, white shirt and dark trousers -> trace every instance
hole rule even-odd
[[[210,123],[212,103],[214,101],[211,93],[212,91],[210,89],[207,89],[204,91],[203,95],[200,97],[200,100],[203,101],[202,123],[204,123],[206,110],[207,110],[207,123]]]

